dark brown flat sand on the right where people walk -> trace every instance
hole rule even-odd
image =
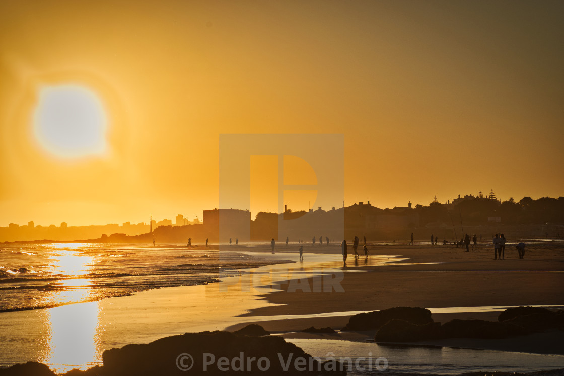
[[[394,265],[363,266],[347,259],[343,292],[272,292],[267,301],[284,306],[254,308],[250,315],[312,314],[380,310],[396,306],[462,307],[559,305],[564,288],[564,245],[527,247],[525,259],[506,250],[493,260],[491,247],[471,252],[438,245],[372,245],[369,257],[396,254]],[[413,265],[416,264],[416,265]],[[363,273],[351,273],[362,270]],[[311,283],[311,281],[310,281]],[[474,316],[474,315],[470,315]],[[481,315],[483,316],[483,315]],[[443,317],[438,321],[446,320]]]

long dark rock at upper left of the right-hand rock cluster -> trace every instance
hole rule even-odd
[[[390,320],[404,320],[408,323],[422,325],[432,323],[431,311],[421,307],[394,307],[387,310],[373,311],[354,315],[343,330],[380,329]]]

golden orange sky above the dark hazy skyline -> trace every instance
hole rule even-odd
[[[562,1],[0,2],[0,226],[201,219],[223,133],[342,133],[346,205],[564,195],[563,25]],[[37,133],[69,87],[101,109],[85,155]]]

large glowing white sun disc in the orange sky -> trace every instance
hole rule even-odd
[[[102,155],[107,151],[107,115],[90,89],[63,85],[44,87],[33,114],[39,144],[62,158]]]

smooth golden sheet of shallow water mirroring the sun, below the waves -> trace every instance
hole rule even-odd
[[[264,263],[295,259],[296,253],[253,253]],[[382,265],[393,256],[371,257],[362,265]],[[350,262],[354,265],[354,262]],[[61,373],[100,364],[102,353],[129,343],[148,343],[168,335],[256,320],[248,310],[272,305],[261,294],[280,289],[332,291],[347,272],[336,254],[305,255],[304,262],[224,270],[219,283],[150,289],[134,296],[0,313],[0,365],[39,361]],[[310,285],[307,278],[321,277]]]

